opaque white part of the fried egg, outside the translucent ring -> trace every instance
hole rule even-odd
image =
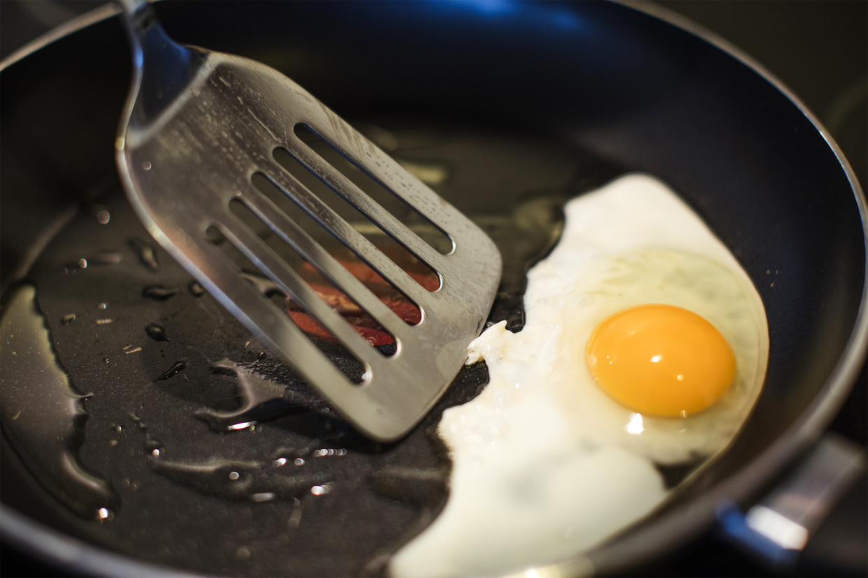
[[[643,239],[658,248],[689,248],[725,265],[750,295],[747,308],[766,352],[754,368],[761,384],[768,329],[759,295],[726,246],[667,185],[627,175],[564,211],[561,242],[529,272],[526,305],[569,292],[590,263],[641,250]],[[527,310],[521,332],[501,322],[470,344],[468,363],[486,360],[490,383],[476,399],[444,412],[438,433],[451,450],[450,496],[437,520],[393,556],[393,578],[494,576],[555,562],[602,542],[665,499],[651,459],[577,435],[582,415],[540,391],[569,387],[539,380],[552,373],[569,340],[561,339],[558,308]],[[753,406],[759,387],[751,393]]]

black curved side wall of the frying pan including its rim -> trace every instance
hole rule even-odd
[[[641,3],[590,0],[171,0],[158,11],[171,36],[266,62],[345,117],[544,133],[652,173],[753,278],[771,348],[740,437],[665,510],[547,571],[610,574],[688,542],[721,503],[758,497],[843,403],[868,332],[865,199],[806,107],[689,23]],[[56,42],[0,64],[0,289],[26,274],[69,207],[111,172],[129,75],[120,25],[103,20],[111,14],[82,17]],[[16,548],[90,575],[178,575],[66,535],[8,448],[0,455],[9,472],[0,534]]]

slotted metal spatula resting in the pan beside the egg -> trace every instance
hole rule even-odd
[[[370,438],[401,438],[455,377],[482,330],[501,273],[483,231],[366,140],[337,114],[272,68],[239,56],[182,47],[144,0],[122,0],[134,79],[115,141],[124,189],[142,223],[253,334],[293,364],[332,406]],[[347,87],[352,89],[352,87]],[[443,255],[385,211],[293,132],[302,124],[384,185],[452,240]],[[436,271],[431,292],[363,237],[274,159],[283,148],[413,256]],[[253,185],[260,173],[350,248],[422,312],[411,326],[392,312],[299,224]],[[385,357],[323,301],[246,225],[238,200],[391,333]],[[211,243],[216,227],[365,367],[353,383],[304,332]]]

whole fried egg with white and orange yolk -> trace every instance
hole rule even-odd
[[[766,374],[746,272],[667,185],[630,174],[575,198],[528,273],[525,325],[468,348],[490,381],[446,410],[450,495],[393,578],[503,575],[593,548],[666,500],[659,466],[731,444]]]

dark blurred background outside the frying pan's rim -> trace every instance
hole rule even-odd
[[[170,0],[169,0],[170,1]],[[254,0],[239,0],[254,1]],[[288,1],[288,0],[287,0]],[[0,0],[0,59],[104,0]],[[832,133],[863,183],[868,184],[868,1],[865,0],[658,0],[743,50],[797,94]],[[868,371],[859,377],[832,430],[868,442]],[[796,572],[844,575],[833,550],[868,553],[868,478],[832,512],[812,539]],[[868,565],[851,571],[868,576]],[[62,574],[0,546],[0,575]],[[714,534],[641,576],[773,576],[770,570],[720,542]]]

